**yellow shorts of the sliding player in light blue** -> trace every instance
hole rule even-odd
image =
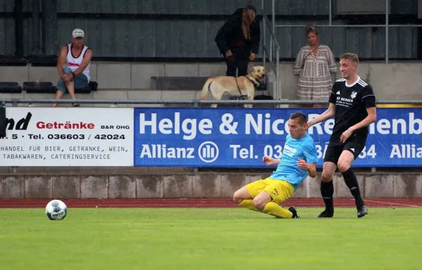
[[[283,203],[295,191],[292,184],[284,180],[274,180],[269,177],[247,184],[245,188],[252,198],[255,198],[262,191],[266,191],[274,203]]]

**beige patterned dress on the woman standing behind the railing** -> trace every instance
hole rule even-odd
[[[310,46],[303,46],[293,67],[293,73],[299,75],[298,99],[328,101],[333,86],[331,72],[337,72],[337,66],[328,46],[319,45],[316,56]]]

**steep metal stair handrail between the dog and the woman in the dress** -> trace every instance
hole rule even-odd
[[[279,101],[281,99],[280,89],[280,46],[276,38],[276,32],[274,28],[274,5],[273,5],[273,23],[267,18],[267,12],[265,11],[264,1],[261,0],[261,13],[262,13],[262,62],[264,67],[267,63],[267,55],[269,65],[276,75],[276,89],[274,89],[274,99]],[[268,28],[268,29],[267,29]],[[267,48],[267,31],[269,31],[269,49]]]

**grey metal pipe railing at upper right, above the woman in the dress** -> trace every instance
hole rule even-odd
[[[381,2],[381,1],[380,1]],[[390,13],[390,0],[385,0],[385,24],[384,25],[333,25],[333,0],[328,0],[329,6],[329,18],[328,18],[328,25],[316,25],[317,27],[349,27],[349,28],[357,28],[357,27],[385,27],[385,63],[388,63],[388,42],[389,42],[389,35],[388,30],[389,27],[422,27],[422,25],[390,25],[388,22],[388,15]],[[272,0],[272,25],[274,27],[302,27],[305,28],[307,25],[276,25],[275,20],[275,0]]]

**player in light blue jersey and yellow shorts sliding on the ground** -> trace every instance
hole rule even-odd
[[[276,171],[267,179],[254,181],[236,191],[234,203],[274,217],[299,218],[295,207],[286,210],[280,203],[290,198],[308,175],[312,178],[316,176],[318,155],[314,139],[307,134],[306,115],[290,115],[288,129],[281,159],[262,158],[266,165],[278,165]]]

